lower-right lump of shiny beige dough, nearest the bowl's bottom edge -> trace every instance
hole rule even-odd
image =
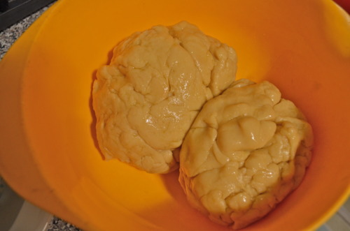
[[[238,80],[203,106],[186,135],[181,186],[211,220],[244,228],[300,184],[312,137],[300,110],[273,84]]]

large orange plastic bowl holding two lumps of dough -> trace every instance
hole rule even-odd
[[[0,171],[83,230],[228,230],[192,209],[178,172],[103,161],[91,87],[122,38],[181,20],[235,47],[237,78],[269,80],[314,128],[304,181],[245,230],[312,230],[349,196],[349,15],[330,0],[59,0],[0,66]]]

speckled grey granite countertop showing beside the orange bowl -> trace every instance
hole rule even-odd
[[[51,4],[0,32],[0,60],[22,33],[50,6]],[[79,229],[54,216],[48,224],[47,231],[79,231]]]

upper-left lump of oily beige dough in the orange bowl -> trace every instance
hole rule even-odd
[[[235,80],[235,51],[188,22],[125,38],[92,97],[104,157],[165,173],[202,105]]]

